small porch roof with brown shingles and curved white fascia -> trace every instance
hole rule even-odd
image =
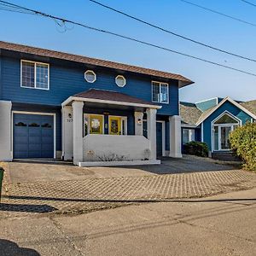
[[[99,102],[106,104],[116,104],[142,108],[162,108],[161,106],[153,102],[143,101],[142,99],[138,99],[137,97],[129,96],[125,93],[120,93],[113,90],[86,90],[73,96],[70,96],[65,102],[62,103],[62,106],[65,106],[73,101]]]

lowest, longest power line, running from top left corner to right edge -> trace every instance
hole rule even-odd
[[[116,32],[110,32],[110,31],[107,31],[107,30],[102,30],[102,29],[100,29],[100,28],[93,27],[93,26],[87,26],[87,25],[82,24],[82,23],[79,23],[79,22],[77,22],[77,21],[67,20],[67,19],[65,19],[65,18],[57,17],[57,16],[55,16],[55,15],[49,15],[49,14],[43,13],[43,12],[38,11],[38,10],[27,9],[27,8],[25,8],[25,7],[22,7],[22,6],[20,6],[20,5],[16,5],[16,4],[14,4],[14,3],[8,3],[8,2],[5,2],[5,1],[0,1],[0,3],[7,3],[7,4],[9,4],[10,6],[18,7],[18,8],[20,8],[20,9],[24,9],[24,10],[26,10],[26,11],[30,11],[30,12],[36,14],[36,15],[41,15],[41,16],[44,16],[44,17],[49,18],[49,19],[52,19],[52,20],[60,20],[62,23],[70,23],[70,24],[73,24],[73,25],[82,26],[82,27],[84,27],[84,28],[87,28],[87,29],[90,29],[90,30],[93,30],[93,31],[96,31],[96,32],[102,32],[102,33],[106,33],[106,34],[109,34],[109,35],[112,35],[112,36],[115,36],[115,37],[118,37],[118,38],[128,39],[128,40],[130,40],[130,41],[137,42],[137,43],[139,43],[139,44],[148,45],[148,46],[154,47],[154,48],[156,48],[156,49],[163,49],[163,50],[166,50],[166,51],[168,51],[168,52],[175,53],[175,54],[177,54],[177,55],[183,55],[183,56],[189,57],[189,58],[191,58],[191,59],[195,59],[195,60],[198,60],[198,61],[207,62],[207,63],[209,63],[209,64],[212,64],[212,65],[215,65],[215,66],[218,66],[218,67],[224,67],[224,68],[227,68],[227,69],[230,69],[230,70],[239,72],[239,73],[245,73],[245,74],[252,75],[252,76],[256,77],[256,73],[250,73],[250,72],[247,72],[247,71],[238,69],[238,68],[236,68],[236,67],[226,66],[226,65],[220,64],[220,63],[218,63],[218,62],[214,62],[214,61],[207,61],[206,59],[203,59],[203,58],[201,58],[201,57],[197,57],[197,56],[194,56],[194,55],[185,54],[185,53],[183,53],[183,52],[179,52],[179,51],[174,50],[174,49],[169,49],[169,48],[166,48],[166,47],[157,45],[157,44],[151,44],[151,43],[148,43],[148,42],[139,40],[139,39],[137,39],[137,38],[131,38],[131,37],[127,37],[127,36],[121,35],[121,34],[116,33]]]

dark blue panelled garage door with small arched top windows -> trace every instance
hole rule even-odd
[[[54,117],[14,114],[14,158],[54,157]]]

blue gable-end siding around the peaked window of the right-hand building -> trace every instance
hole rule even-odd
[[[204,142],[207,143],[209,149],[212,151],[212,121],[218,118],[219,115],[228,111],[236,116],[236,118],[241,120],[241,124],[244,125],[247,121],[251,121],[251,117],[241,111],[240,108],[237,108],[231,102],[225,102],[221,107],[219,107],[214,113],[212,113],[204,122],[203,122],[203,135]]]

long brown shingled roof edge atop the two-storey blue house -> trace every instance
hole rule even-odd
[[[12,44],[0,41],[0,49],[7,49],[12,51],[18,51],[21,53],[27,53],[32,55],[47,56],[56,59],[62,59],[66,61],[76,61],[79,63],[96,65],[100,67],[109,67],[114,69],[119,69],[126,72],[141,73],[145,75],[150,75],[154,77],[164,78],[164,79],[175,79],[179,81],[179,87],[183,87],[194,82],[184,78],[180,74],[167,73],[159,70],[149,69],[145,67],[131,66],[123,63],[104,61],[100,59],[90,58],[83,55],[73,55],[65,52],[55,51],[51,49],[41,49],[32,46],[22,45],[22,44]]]

